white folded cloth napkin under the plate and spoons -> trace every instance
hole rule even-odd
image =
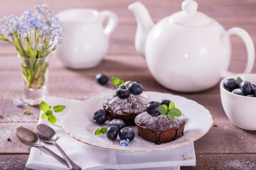
[[[57,123],[51,124],[47,119],[39,118],[38,123],[45,123],[58,134],[57,143],[66,154],[82,169],[180,169],[180,166],[196,166],[193,142],[188,145],[154,152],[118,152],[86,145],[70,137],[61,125],[63,113],[80,101],[48,96],[46,103],[50,106],[64,105],[65,110],[54,113]],[[52,145],[40,142],[63,157]],[[128,146],[129,147],[129,146]],[[30,169],[68,169],[50,154],[32,147],[26,167]]]

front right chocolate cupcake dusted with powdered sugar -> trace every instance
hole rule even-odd
[[[186,116],[175,117],[174,121],[169,120],[168,115],[152,116],[144,112],[137,115],[135,124],[139,135],[149,142],[157,145],[162,142],[171,142],[183,135],[186,124]]]

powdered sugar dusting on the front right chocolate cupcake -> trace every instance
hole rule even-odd
[[[174,121],[170,121],[168,115],[158,115],[151,116],[148,113],[144,112],[142,114],[137,115],[135,118],[135,123],[139,125],[145,125],[147,129],[156,132],[156,134],[160,134],[166,129],[173,128],[179,129],[181,125],[186,123],[186,116],[181,115],[179,117],[175,117]]]

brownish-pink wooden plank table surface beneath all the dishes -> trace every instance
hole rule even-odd
[[[194,94],[179,94],[160,86],[151,76],[143,57],[134,49],[137,23],[127,10],[131,0],[0,0],[0,18],[11,13],[20,15],[24,9],[36,4],[48,4],[58,12],[66,8],[95,8],[117,13],[119,24],[110,38],[110,49],[102,63],[93,69],[65,69],[58,58],[51,57],[48,89],[50,96],[85,99],[113,89],[100,86],[95,81],[97,73],[117,76],[124,80],[139,81],[145,91],[160,91],[190,98],[205,106],[213,115],[213,128],[195,142],[196,166],[181,169],[256,169],[256,135],[236,128],[228,120],[220,102],[217,84],[212,89]],[[144,0],[154,22],[181,10],[181,0]],[[215,18],[228,29],[238,26],[247,30],[255,42],[255,0],[198,0],[199,10]],[[232,37],[233,57],[230,70],[241,72],[245,68],[246,50],[242,40]],[[256,69],[253,69],[253,73]],[[210,77],[209,77],[210,79]],[[21,71],[14,47],[0,42],[0,169],[24,169],[29,148],[15,135],[19,126],[33,130],[38,122],[39,108],[13,106],[13,98],[22,97]],[[33,114],[23,115],[31,109]],[[241,113],[242,114],[242,113]],[[7,141],[10,138],[11,141]]]

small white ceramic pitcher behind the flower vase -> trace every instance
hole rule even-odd
[[[65,67],[87,69],[97,66],[106,55],[109,38],[117,26],[117,16],[112,11],[90,8],[71,8],[58,13],[65,36],[56,54]],[[108,23],[103,28],[103,21]]]

